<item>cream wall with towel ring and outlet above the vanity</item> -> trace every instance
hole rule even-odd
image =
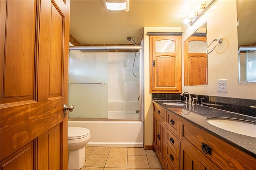
[[[191,94],[256,100],[256,83],[238,83],[236,20],[236,0],[218,0],[194,25],[182,26],[182,41],[185,41],[205,21],[207,21],[208,45],[213,39],[223,37],[223,42],[208,54],[208,85],[183,86],[182,91],[188,91]],[[216,41],[210,48],[215,44]],[[182,62],[184,66],[184,60]],[[228,79],[227,93],[217,92],[218,79]],[[182,78],[182,84],[184,84],[184,78]]]

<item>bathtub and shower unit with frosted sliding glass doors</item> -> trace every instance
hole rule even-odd
[[[68,127],[89,129],[88,145],[143,147],[141,48],[70,47]]]

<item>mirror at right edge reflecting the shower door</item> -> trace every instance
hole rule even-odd
[[[237,0],[239,83],[256,82],[256,1]]]

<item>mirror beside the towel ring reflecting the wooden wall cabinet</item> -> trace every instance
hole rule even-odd
[[[206,22],[184,41],[184,85],[208,84]]]

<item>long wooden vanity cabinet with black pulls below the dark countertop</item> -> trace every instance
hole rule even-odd
[[[165,170],[255,170],[256,158],[158,104],[153,106],[154,149]]]

